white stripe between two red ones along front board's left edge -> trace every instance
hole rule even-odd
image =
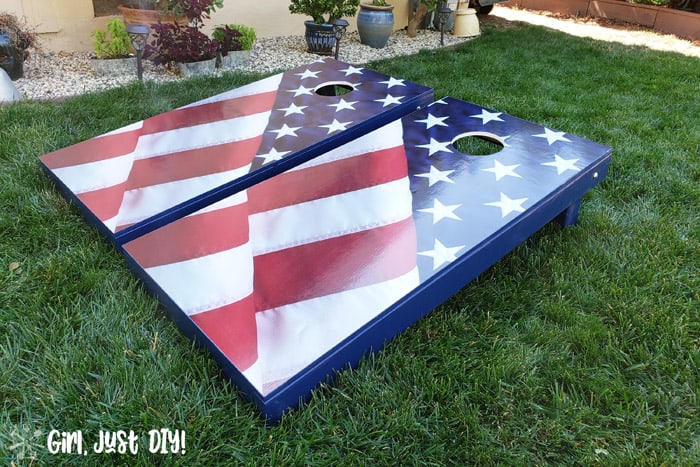
[[[188,315],[237,302],[253,291],[253,255],[249,243],[145,271]]]

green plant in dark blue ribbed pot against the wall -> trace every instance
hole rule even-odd
[[[309,52],[332,55],[335,46],[333,20],[355,16],[359,4],[360,0],[291,0],[289,11],[312,18],[304,21]]]

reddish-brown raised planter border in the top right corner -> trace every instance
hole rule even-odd
[[[621,0],[512,0],[509,4],[563,15],[626,21],[686,39],[700,40],[700,13],[690,11]]]

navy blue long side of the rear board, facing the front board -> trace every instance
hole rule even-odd
[[[253,185],[272,178],[275,175],[279,175],[282,172],[301,165],[315,157],[321,156],[328,151],[342,146],[343,144],[349,143],[350,141],[357,139],[371,131],[379,129],[388,123],[398,120],[416,109],[427,106],[433,102],[433,90],[431,88],[425,89],[426,90],[423,93],[417,94],[416,96],[409,98],[407,101],[388,109],[378,117],[369,118],[365,121],[357,123],[347,130],[338,133],[334,137],[326,138],[317,143],[311,144],[303,149],[300,149],[294,154],[286,156],[278,161],[266,164],[249,174],[243,175],[235,180],[231,180],[228,183],[166,209],[163,212],[119,231],[114,235],[114,238],[119,245],[124,245],[125,243],[141,237],[142,235],[170,224],[171,222],[189,214],[197,212],[200,209],[223,200],[224,198],[250,188]]]

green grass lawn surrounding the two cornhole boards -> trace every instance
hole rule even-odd
[[[0,108],[0,464],[699,464],[700,60],[484,29],[368,67],[612,146],[608,178],[272,427],[37,162],[259,76]],[[139,452],[51,455],[52,429]]]

